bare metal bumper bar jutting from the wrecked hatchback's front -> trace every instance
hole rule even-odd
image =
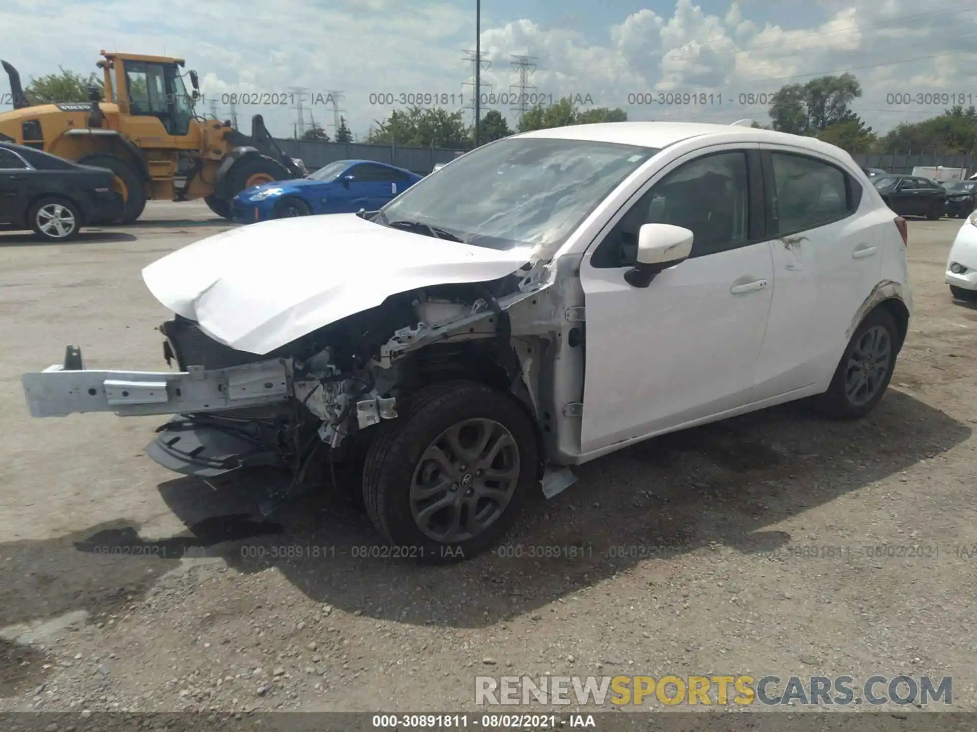
[[[81,351],[68,347],[64,364],[21,377],[33,417],[114,412],[120,417],[218,412],[286,401],[292,361],[268,361],[205,371],[94,371],[81,368]]]

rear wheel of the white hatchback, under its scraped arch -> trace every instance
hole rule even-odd
[[[831,386],[815,400],[815,408],[837,420],[865,417],[889,386],[900,346],[895,319],[876,307],[848,342]]]

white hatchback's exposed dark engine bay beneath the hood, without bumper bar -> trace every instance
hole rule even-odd
[[[264,355],[224,346],[177,315],[160,326],[168,364],[212,372],[280,359],[290,398],[181,414],[159,427],[149,457],[204,478],[245,467],[285,468],[291,481],[280,493],[287,494],[315,482],[323,462],[331,468],[355,460],[364,450],[363,433],[396,419],[398,400],[423,386],[454,379],[489,384],[519,396],[535,418],[538,388],[518,351],[532,351],[539,339],[528,333],[513,340],[510,313],[499,303],[531,297],[538,307],[540,288],[527,288],[530,281],[521,271],[391,296]]]

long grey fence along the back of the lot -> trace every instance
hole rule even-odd
[[[427,175],[437,163],[446,163],[465,152],[446,147],[402,147],[398,144],[365,144],[362,142],[276,141],[288,155],[301,158],[310,171],[336,160],[375,160],[405,168],[419,176]],[[916,166],[942,165],[945,168],[977,168],[973,153],[936,154],[901,152],[856,152],[855,162],[864,168],[881,168],[888,173],[912,173]]]

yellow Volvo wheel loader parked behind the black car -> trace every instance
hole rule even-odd
[[[302,161],[281,151],[261,115],[252,118],[250,136],[199,116],[197,74],[189,72],[188,93],[183,59],[101,54],[105,92],[93,87],[87,103],[31,105],[17,69],[0,61],[15,102],[0,112],[0,140],[113,171],[125,198],[122,223],[136,221],[149,199],[203,198],[230,218],[231,200],[244,188],[307,175]]]

